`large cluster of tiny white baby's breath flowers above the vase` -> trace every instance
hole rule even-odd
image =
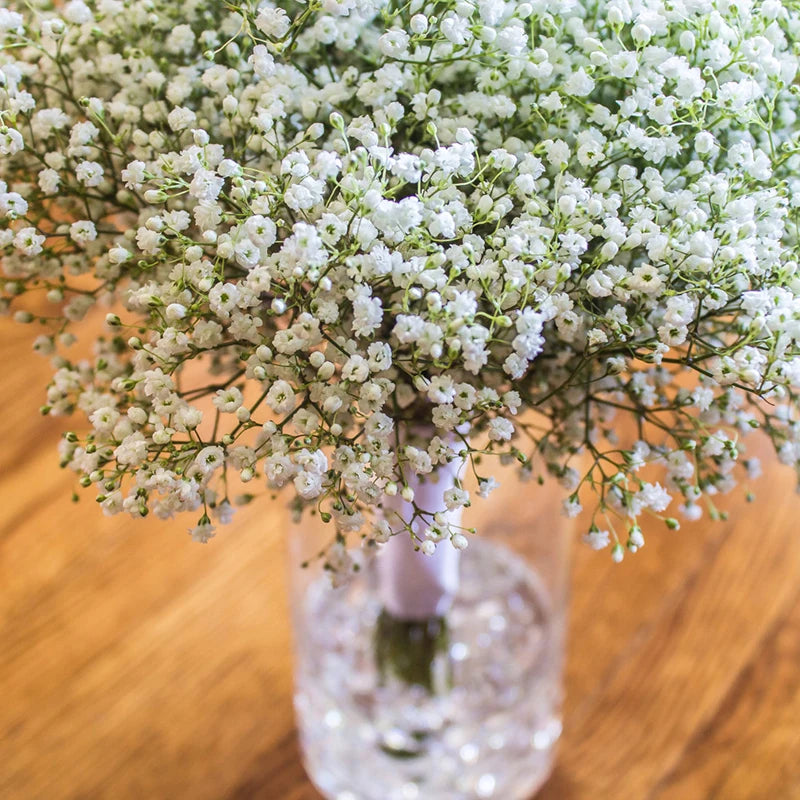
[[[0,43],[0,303],[106,513],[206,541],[266,476],[346,568],[386,496],[466,546],[413,486],[496,456],[619,560],[751,430],[797,468],[799,3],[11,0]]]

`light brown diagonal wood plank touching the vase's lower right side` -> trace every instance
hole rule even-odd
[[[777,473],[771,491],[786,496],[791,480]],[[786,614],[800,574],[796,507],[737,510],[669,613],[632,641],[588,707],[567,717],[558,773],[569,793],[557,775],[543,797],[646,797],[716,713],[765,630]],[[764,530],[767,511],[772,524]],[[629,613],[638,613],[631,600]]]

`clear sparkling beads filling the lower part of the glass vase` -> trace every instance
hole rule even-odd
[[[542,582],[475,541],[447,613],[450,688],[387,682],[368,567],[308,592],[295,705],[306,770],[328,800],[529,800],[561,732],[561,637]]]

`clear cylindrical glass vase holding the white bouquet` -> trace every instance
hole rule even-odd
[[[446,603],[422,619],[387,611],[387,545],[356,548],[359,571],[334,588],[314,558],[332,526],[293,523],[295,709],[324,797],[528,800],[545,782],[561,732],[571,539],[555,495],[509,469],[465,511],[479,534]]]

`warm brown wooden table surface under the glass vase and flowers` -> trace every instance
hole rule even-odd
[[[318,800],[292,723],[283,511],[208,546],[70,502],[48,373],[0,320],[0,798]],[[767,450],[763,454],[769,459]],[[577,548],[544,800],[800,798],[800,502],[769,460],[733,522]]]

